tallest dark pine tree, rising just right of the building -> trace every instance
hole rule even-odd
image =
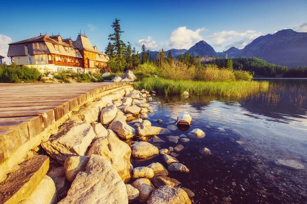
[[[108,40],[114,42],[113,45],[115,47],[117,61],[121,65],[124,42],[120,39],[120,36],[122,33],[124,33],[124,31],[121,31],[119,21],[120,20],[116,18],[115,22],[113,22],[111,25],[111,27],[114,29],[114,33],[108,35]]]

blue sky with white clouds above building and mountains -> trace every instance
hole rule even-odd
[[[0,0],[0,55],[8,43],[60,34],[87,35],[103,51],[112,22],[120,19],[122,40],[137,50],[189,49],[205,40],[216,52],[244,48],[282,29],[307,32],[306,0],[258,1],[14,1]],[[5,61],[10,61],[8,58]]]

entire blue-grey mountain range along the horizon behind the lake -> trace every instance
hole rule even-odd
[[[195,56],[225,57],[224,52],[215,52],[214,48],[205,41],[199,41],[188,50],[170,49],[165,52],[167,56],[178,58],[180,53],[187,52]],[[246,45],[243,49],[230,47],[225,51],[228,57],[257,57],[270,63],[297,67],[307,66],[307,33],[295,32],[291,29],[281,30],[275,34],[260,36]],[[158,52],[150,52],[155,59]]]

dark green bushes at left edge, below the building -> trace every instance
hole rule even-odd
[[[37,82],[40,77],[41,74],[36,68],[18,66],[15,63],[0,66],[0,82],[2,83]]]

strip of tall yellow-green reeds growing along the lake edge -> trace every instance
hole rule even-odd
[[[169,80],[162,78],[144,78],[136,83],[135,88],[148,91],[155,90],[160,94],[183,94],[188,91],[192,95],[210,95],[227,98],[245,98],[269,88],[269,82],[264,81],[229,81],[203,82],[190,80]]]

